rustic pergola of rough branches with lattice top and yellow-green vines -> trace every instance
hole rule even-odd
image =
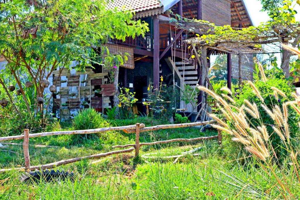
[[[267,23],[259,27],[232,28],[230,26],[220,27],[203,21],[183,19],[177,22],[176,26],[177,28],[199,34],[199,37],[185,40],[185,42],[192,46],[193,52],[201,66],[199,85],[203,86],[207,85],[207,57],[211,53],[216,51],[227,53],[227,87],[231,88],[231,54],[238,55],[238,79],[239,86],[241,86],[241,56],[243,54],[281,52],[280,43],[289,43],[295,38],[298,41],[300,37],[300,24],[290,23]],[[262,48],[262,45],[267,48]],[[201,52],[201,56],[198,55],[198,52]],[[207,104],[204,92],[202,92],[201,96],[201,109],[198,114],[201,115],[202,120],[205,120]]]

